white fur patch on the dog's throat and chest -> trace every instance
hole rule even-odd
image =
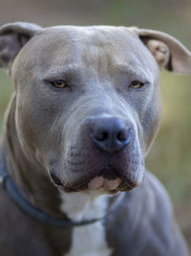
[[[61,210],[73,221],[92,220],[106,214],[107,195],[96,197],[93,194],[70,193],[60,194],[63,199]],[[63,256],[110,256],[105,238],[105,228],[101,221],[74,227],[72,246]]]

